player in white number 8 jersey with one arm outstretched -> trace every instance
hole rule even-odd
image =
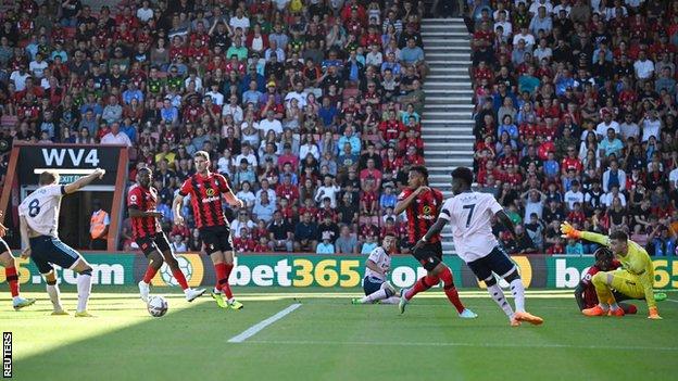
[[[52,315],[68,315],[61,305],[59,285],[52,265],[71,269],[78,274],[78,303],[75,317],[92,317],[87,312],[87,302],[91,292],[91,266],[75,250],[59,239],[59,209],[61,198],[101,179],[105,170],[95,169],[77,181],[60,186],[59,174],[46,170],[40,174],[40,188],[30,193],[18,205],[20,229],[22,238],[22,257],[33,257],[47,282],[47,293],[52,302]]]

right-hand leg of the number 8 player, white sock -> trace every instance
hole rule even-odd
[[[48,243],[51,245],[47,251],[48,261],[54,265],[59,265],[62,268],[71,269],[78,274],[77,277],[77,292],[78,303],[75,312],[75,317],[91,317],[87,312],[87,303],[89,302],[89,295],[91,294],[91,271],[87,261],[78,252],[67,244],[61,242],[58,238],[52,238]]]

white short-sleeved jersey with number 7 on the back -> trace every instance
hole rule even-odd
[[[454,247],[464,262],[481,258],[498,245],[492,234],[492,216],[503,207],[489,193],[464,192],[442,204],[439,218],[452,225]]]

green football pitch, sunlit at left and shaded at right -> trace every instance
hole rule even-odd
[[[651,321],[642,301],[636,316],[586,318],[569,291],[528,291],[545,322],[511,328],[480,290],[461,292],[475,320],[457,318],[440,290],[399,315],[351,305],[357,289],[235,288],[246,307],[224,310],[155,288],[170,312],[153,318],[136,288],[109,287],[93,290],[97,317],[85,319],[48,316],[46,293],[32,290],[24,295],[38,302],[18,313],[0,299],[17,380],[664,380],[678,356],[673,292],[660,303],[664,320]],[[70,310],[74,291],[62,289]]]

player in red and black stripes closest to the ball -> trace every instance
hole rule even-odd
[[[193,290],[188,287],[186,277],[179,268],[179,263],[172,253],[172,247],[167,237],[162,231],[158,218],[162,218],[162,213],[155,211],[158,205],[158,190],[151,187],[153,172],[150,168],[141,168],[137,173],[137,183],[129,189],[127,195],[127,207],[131,218],[131,233],[135,241],[149,259],[148,268],[143,279],[139,281],[139,294],[143,302],[148,302],[151,279],[162,267],[163,261],[167,263],[172,275],[177,280],[186,300],[192,302],[201,296],[205,290]]]

